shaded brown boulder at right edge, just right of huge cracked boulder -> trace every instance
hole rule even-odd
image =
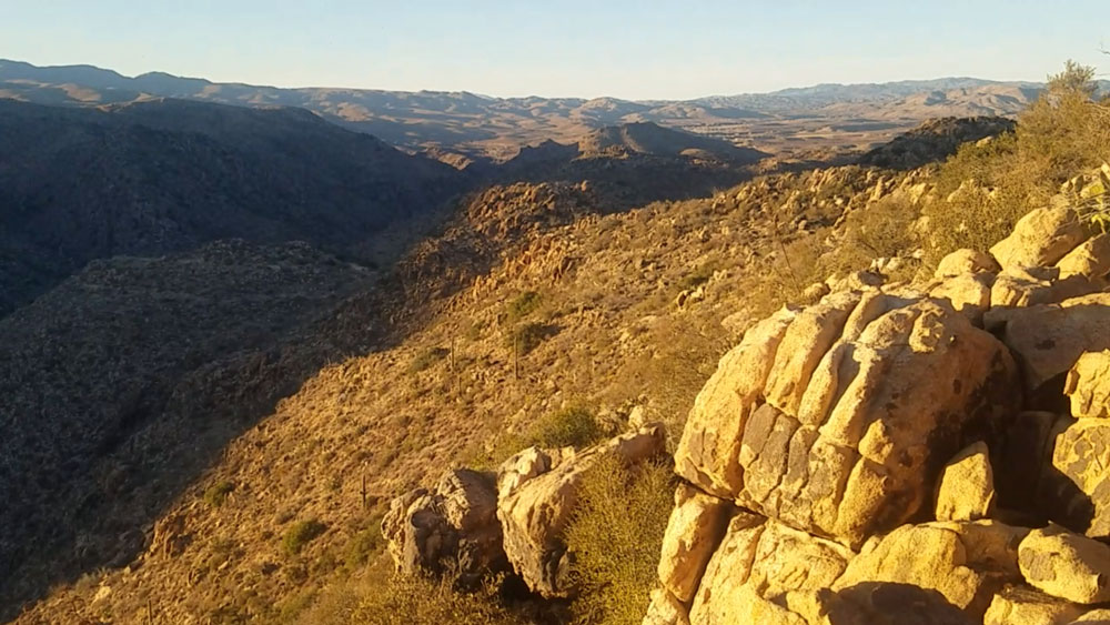
[[[1021,365],[1026,389],[1033,392],[1070,371],[1084,352],[1110,349],[1110,293],[991,310],[983,324],[1010,349]]]

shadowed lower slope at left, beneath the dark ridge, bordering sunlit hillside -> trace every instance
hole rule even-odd
[[[229,440],[357,349],[304,326],[373,278],[303,243],[223,241],[94,261],[0,320],[6,611],[130,562]],[[363,342],[381,334],[370,323]]]

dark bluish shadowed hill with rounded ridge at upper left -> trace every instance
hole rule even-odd
[[[466,184],[296,109],[147,101],[104,109],[0,100],[0,315],[93,259],[218,239],[303,240],[371,260],[386,225]]]

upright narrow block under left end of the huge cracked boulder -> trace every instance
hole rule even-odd
[[[687,484],[675,492],[658,572],[663,587],[683,603],[689,604],[694,598],[709,556],[725,534],[731,510],[731,502],[706,495]]]

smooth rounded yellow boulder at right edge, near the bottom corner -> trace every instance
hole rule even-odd
[[[1021,574],[1040,591],[1081,604],[1110,601],[1110,545],[1053,525],[1030,532],[1018,553]]]

